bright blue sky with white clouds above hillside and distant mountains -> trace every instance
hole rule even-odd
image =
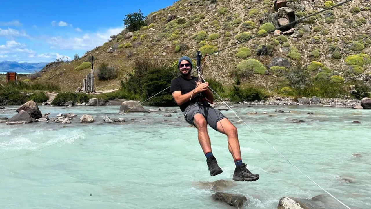
[[[73,59],[104,44],[124,29],[125,15],[144,15],[172,5],[175,0],[1,2],[0,62],[51,62]]]

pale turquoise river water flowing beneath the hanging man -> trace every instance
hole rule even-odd
[[[0,110],[0,117],[16,115],[16,107]],[[1,208],[233,208],[214,201],[211,195],[217,191],[201,183],[232,180],[235,166],[225,135],[209,127],[213,153],[223,169],[211,177],[197,129],[182,120],[177,107],[167,108],[172,114],[169,118],[164,112],[116,115],[119,106],[62,108],[39,106],[43,114],[50,113],[50,118],[58,113],[77,114],[71,124],[0,123]],[[285,113],[276,113],[277,108]],[[350,208],[371,207],[371,111],[263,105],[232,109],[303,173]],[[239,119],[231,110],[222,112],[238,129],[242,160],[260,175],[255,182],[232,181],[233,186],[222,192],[246,196],[249,201],[244,208],[249,209],[277,208],[284,196],[328,196],[246,125],[236,124]],[[81,124],[83,114],[92,115],[95,122]],[[122,117],[126,122],[104,123],[106,115]],[[292,119],[304,122],[293,123]],[[352,123],[354,120],[361,123]],[[345,208],[332,197],[322,201],[327,205],[323,208]]]

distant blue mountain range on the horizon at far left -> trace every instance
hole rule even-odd
[[[33,73],[33,71],[40,71],[48,62],[28,63],[28,62],[0,62],[0,72],[17,72],[17,73]]]

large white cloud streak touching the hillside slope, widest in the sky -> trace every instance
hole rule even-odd
[[[122,30],[122,28],[110,28],[104,32],[85,33],[83,36],[70,38],[55,36],[47,39],[46,42],[51,45],[52,49],[89,50],[103,45],[111,35],[116,35]]]

